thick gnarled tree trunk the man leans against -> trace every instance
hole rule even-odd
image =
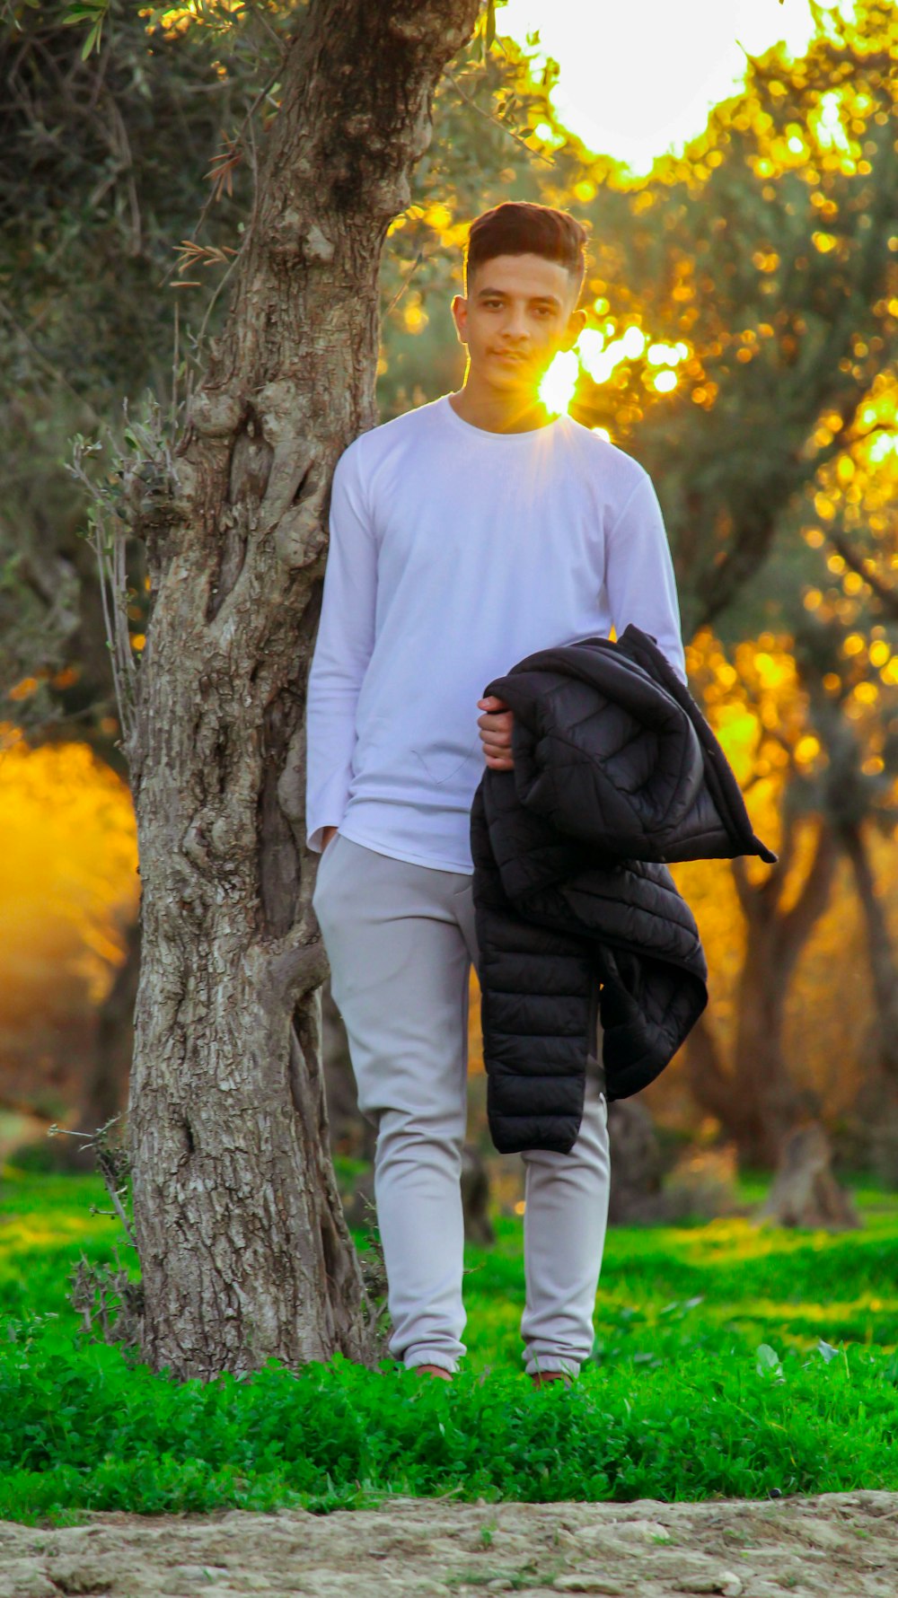
[[[478,0],[312,0],[147,539],[126,754],[142,964],[129,1155],[142,1357],[177,1377],[371,1363],[328,1151],[305,682],[334,463],[375,422],[377,270]]]

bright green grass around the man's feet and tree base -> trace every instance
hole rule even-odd
[[[741,1219],[609,1232],[570,1390],[523,1374],[521,1222],[503,1218],[495,1248],[468,1250],[454,1384],[337,1357],[203,1385],[83,1339],[69,1270],[121,1245],[89,1214],[107,1208],[99,1179],[3,1175],[0,1520],[898,1489],[898,1197],[856,1192],[866,1227],[834,1237]]]

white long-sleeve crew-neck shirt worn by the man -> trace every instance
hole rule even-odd
[[[331,495],[307,847],[339,826],[382,855],[473,871],[486,684],[628,622],[685,682],[662,508],[633,455],[569,415],[491,433],[447,395],[361,433]]]

